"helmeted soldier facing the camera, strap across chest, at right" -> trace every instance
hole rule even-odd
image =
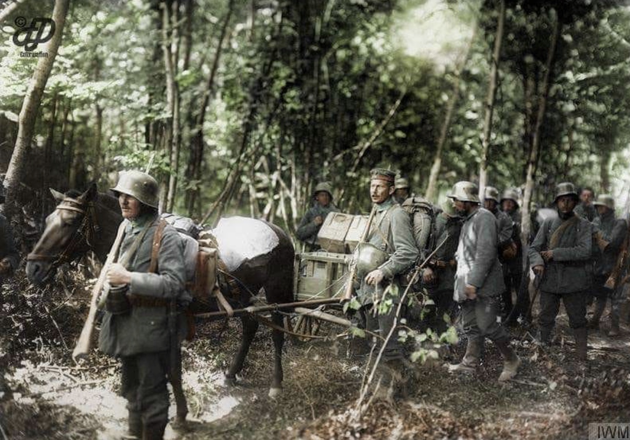
[[[556,187],[554,200],[558,217],[542,221],[536,238],[529,248],[529,261],[534,274],[541,278],[540,298],[541,342],[551,342],[560,300],[564,303],[569,325],[575,335],[578,359],[587,359],[586,290],[590,285],[592,228],[588,220],[573,210],[578,193],[572,183]]]

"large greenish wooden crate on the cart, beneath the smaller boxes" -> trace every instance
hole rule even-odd
[[[333,252],[295,254],[295,300],[319,300],[343,295],[352,255]]]

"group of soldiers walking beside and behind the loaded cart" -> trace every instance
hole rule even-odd
[[[321,191],[326,191],[328,205],[318,203]],[[314,195],[318,202],[297,230],[298,237],[310,239],[311,244],[322,223],[316,225],[317,216],[323,219],[328,212],[338,211],[331,203],[333,194],[328,184],[318,185]],[[499,380],[510,380],[517,374],[520,359],[510,346],[502,322],[510,312],[511,317],[514,313],[527,317],[523,307],[516,310],[513,290],[527,296],[524,304],[530,312],[529,292],[527,286],[522,286],[529,284],[530,273],[540,301],[540,344],[553,341],[560,301],[575,337],[579,361],[587,361],[587,328],[599,327],[609,297],[613,299],[609,335],[619,334],[616,292],[622,283],[611,281],[611,274],[619,269],[619,255],[625,252],[627,224],[615,217],[611,196],[600,195],[592,202],[592,189],[584,188],[578,195],[573,184],[558,184],[553,200],[556,215],[536,225],[525,254],[518,193],[514,189],[500,196],[496,188],[486,187],[480,196],[476,184],[460,181],[447,200],[435,206],[414,196],[406,179],[396,179],[387,169],[374,169],[370,174],[370,198],[376,213],[367,242],[385,256],[375,260],[372,270],[357,274],[355,295],[365,328],[386,340],[383,359],[392,369],[404,365],[397,337],[386,337],[396,325],[397,308],[379,308],[379,304],[391,300],[396,306],[410,270],[427,256],[420,283],[413,290],[427,291],[435,303],[433,330],[445,330],[447,322],[454,322],[455,315],[459,315],[459,329],[467,338],[466,354],[460,363],[450,366],[451,371],[474,371],[487,337],[504,359]],[[355,252],[355,260],[363,261],[360,252]],[[374,251],[370,257],[373,255]],[[595,303],[590,322],[589,298]]]

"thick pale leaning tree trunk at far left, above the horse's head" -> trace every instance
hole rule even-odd
[[[55,8],[52,11],[52,20],[55,21],[55,34],[47,43],[45,48],[45,51],[48,52],[49,56],[42,57],[38,60],[35,72],[33,72],[33,77],[31,77],[30,85],[26,90],[24,102],[22,103],[18,137],[6,172],[5,184],[7,193],[5,209],[9,218],[19,211],[19,208],[16,205],[16,193],[18,191],[25,165],[25,152],[26,149],[28,149],[35,132],[37,113],[42,101],[46,82],[50,76],[50,71],[52,70],[52,65],[55,62],[55,57],[57,56],[57,50],[61,44],[61,37],[64,31],[64,24],[66,23],[66,14],[69,4],[70,0],[55,0]]]

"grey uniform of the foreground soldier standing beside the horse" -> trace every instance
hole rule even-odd
[[[169,349],[180,342],[171,341],[168,304],[176,300],[186,306],[191,299],[185,291],[183,243],[175,228],[166,225],[157,254],[157,271],[149,273],[157,216],[125,222],[121,260],[136,237],[148,229],[126,266],[132,279],[127,293],[131,308],[120,314],[105,312],[99,346],[122,361],[121,394],[129,402],[130,425],[133,420],[141,420],[144,426],[162,426],[163,431],[168,422]],[[180,326],[182,320],[180,317]]]

